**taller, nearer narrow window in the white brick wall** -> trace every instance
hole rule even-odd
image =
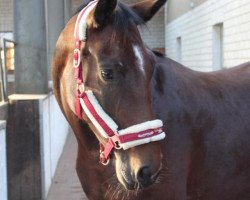
[[[223,68],[223,23],[213,26],[213,69]]]

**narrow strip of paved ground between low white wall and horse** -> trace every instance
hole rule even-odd
[[[75,171],[76,147],[69,133],[47,200],[87,200]]]

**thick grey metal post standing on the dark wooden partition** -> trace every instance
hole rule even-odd
[[[47,94],[45,2],[13,0],[13,8],[14,40],[18,44],[15,48],[15,92]]]

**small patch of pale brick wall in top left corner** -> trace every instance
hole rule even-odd
[[[12,0],[0,0],[0,32],[13,31]]]

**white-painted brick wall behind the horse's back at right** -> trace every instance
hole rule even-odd
[[[223,67],[250,61],[250,1],[208,0],[166,26],[167,55],[195,70],[212,71],[213,27],[223,24]]]

